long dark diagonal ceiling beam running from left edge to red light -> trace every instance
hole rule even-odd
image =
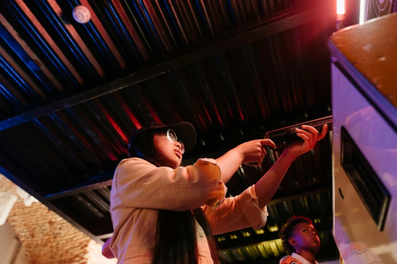
[[[204,58],[246,45],[257,39],[282,32],[305,23],[320,20],[324,17],[335,16],[333,1],[310,1],[303,6],[296,6],[274,14],[255,23],[247,24],[243,28],[236,28],[219,36],[213,37],[197,45],[192,45],[179,52],[172,53],[160,61],[147,63],[144,67],[134,69],[127,75],[106,83],[99,84],[84,92],[62,95],[43,105],[35,106],[25,112],[17,113],[0,122],[0,131],[30,121],[34,118],[56,112],[58,110],[91,100],[160,75],[164,72],[200,61]],[[102,79],[103,81],[104,79]],[[80,89],[81,91],[82,89]]]

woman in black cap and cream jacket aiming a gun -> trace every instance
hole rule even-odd
[[[254,186],[225,198],[225,184],[243,163],[262,163],[264,145],[254,140],[222,157],[179,167],[196,143],[190,123],[149,123],[131,137],[129,159],[116,168],[111,191],[114,234],[102,247],[118,263],[219,263],[213,235],[262,228],[270,201],[293,160],[325,137],[311,126],[297,129],[302,140],[290,145]]]

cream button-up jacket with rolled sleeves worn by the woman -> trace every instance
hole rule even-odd
[[[226,186],[214,159],[192,166],[156,167],[138,158],[117,166],[111,191],[114,233],[110,242],[117,263],[151,264],[158,209],[187,211],[202,207],[214,235],[247,227],[262,228],[267,209],[259,208],[254,186],[225,199]],[[203,229],[196,222],[200,264],[212,264]]]

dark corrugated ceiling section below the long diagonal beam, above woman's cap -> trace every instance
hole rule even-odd
[[[39,165],[25,164],[41,184],[71,183],[113,169],[124,142],[149,121],[190,121],[204,145],[325,116],[331,31],[319,29],[328,28],[305,24],[2,131],[4,150]]]

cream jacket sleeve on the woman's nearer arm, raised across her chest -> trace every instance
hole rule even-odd
[[[114,175],[125,206],[174,211],[219,206],[227,190],[220,179],[221,170],[214,159],[172,169],[131,158],[121,161]]]

